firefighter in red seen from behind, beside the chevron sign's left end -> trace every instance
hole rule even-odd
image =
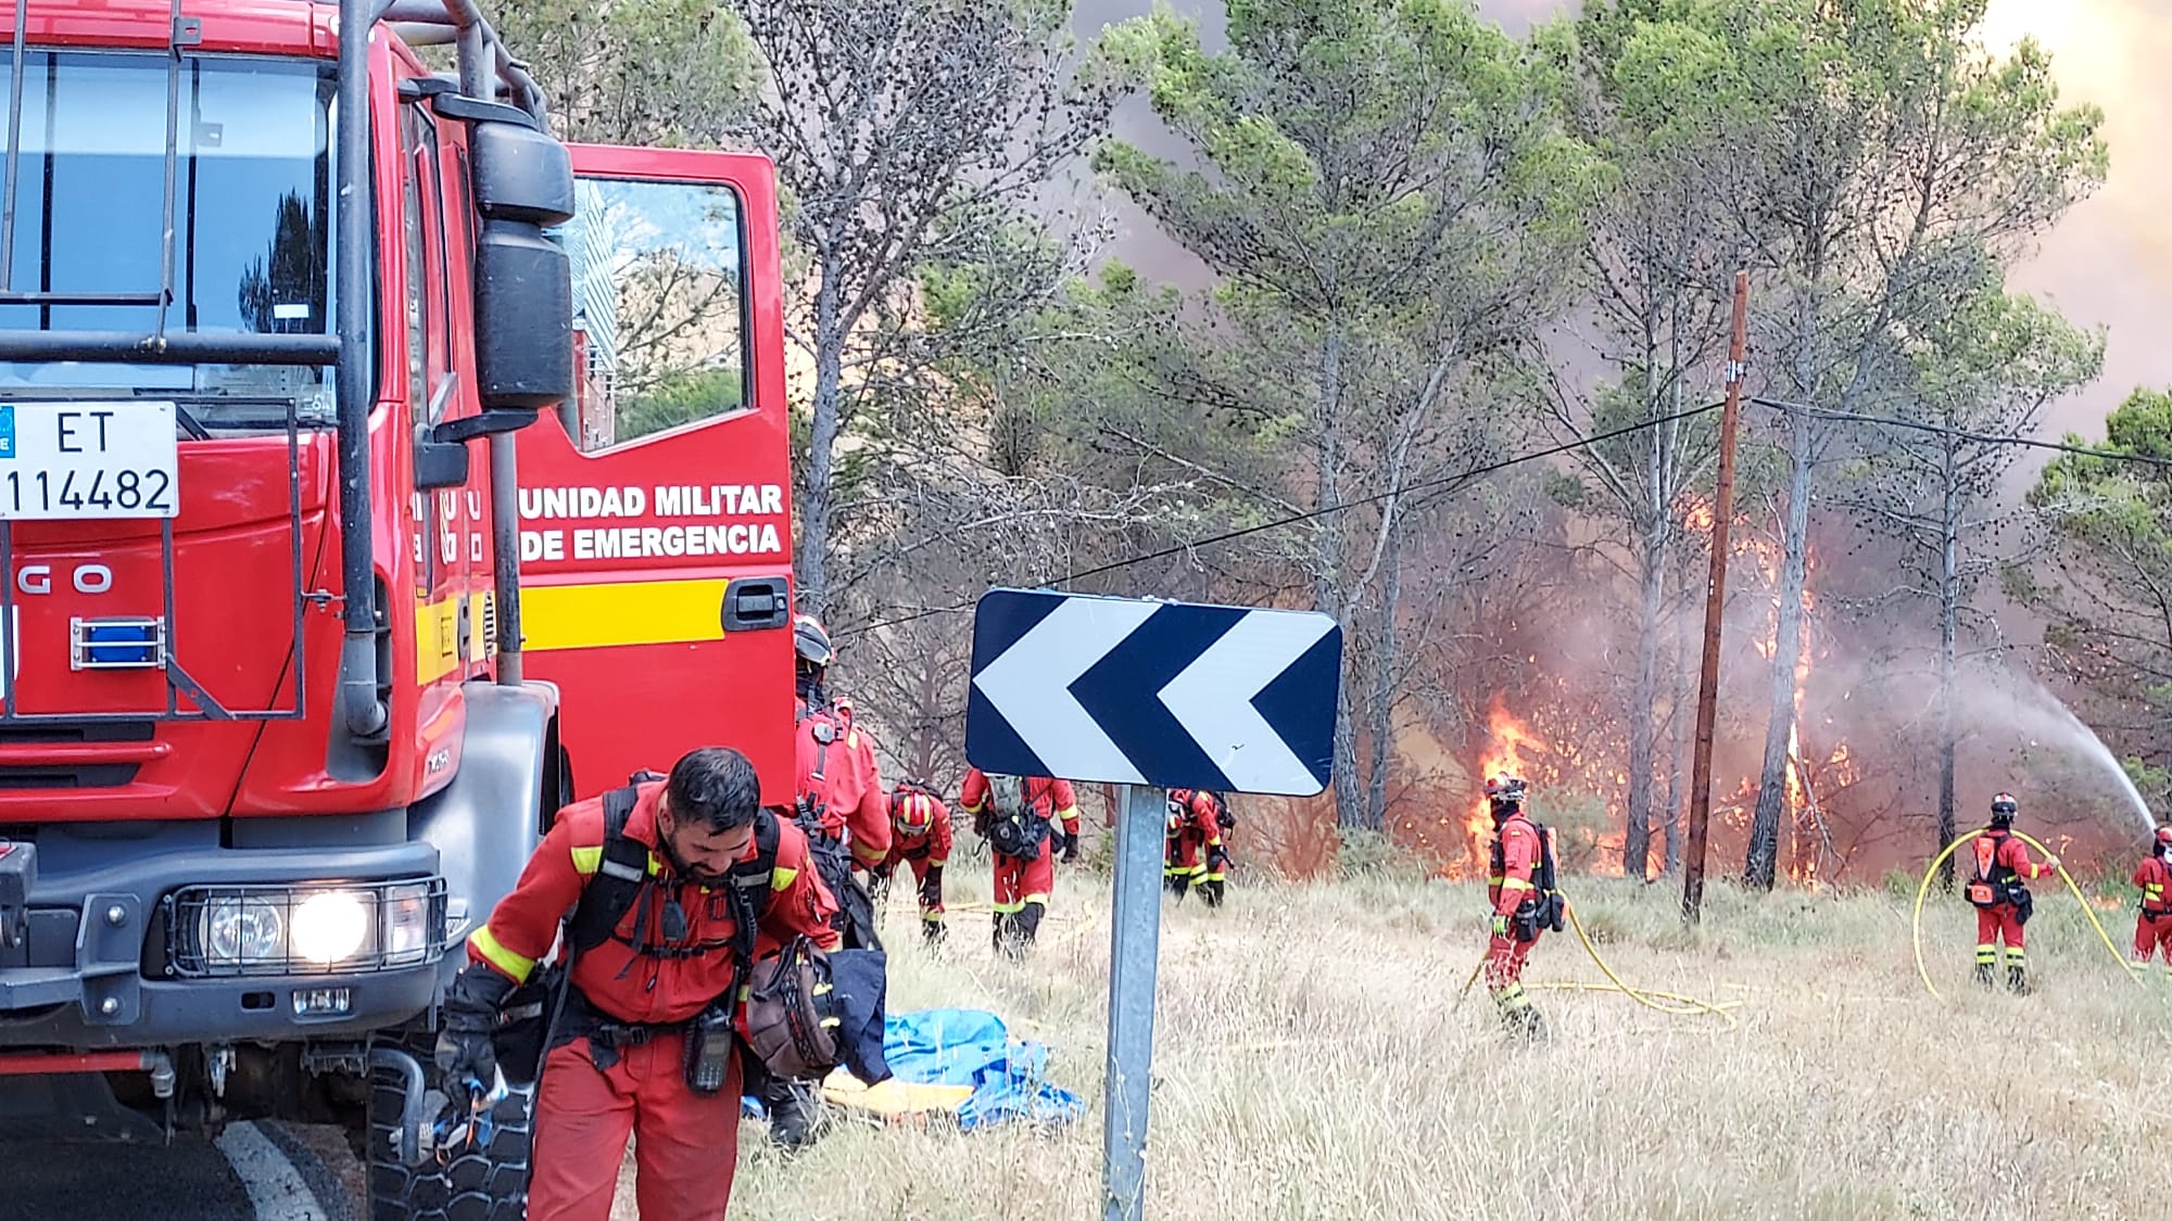
[[[988,841],[995,858],[995,947],[1019,958],[1049,910],[1056,886],[1051,854],[1062,849],[1064,865],[1079,858],[1077,797],[1069,780],[986,776],[969,767],[958,806],[973,815],[973,834]]]

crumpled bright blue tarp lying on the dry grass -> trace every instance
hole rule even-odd
[[[964,1130],[1023,1119],[1062,1125],[1086,1112],[1079,1095],[1047,1080],[1049,1049],[1010,1036],[1003,1019],[977,1008],[923,1008],[882,1021],[882,1058],[904,1082],[973,1086],[958,1106]],[[745,1099],[749,1117],[762,1115]]]

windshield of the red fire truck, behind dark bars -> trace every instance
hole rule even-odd
[[[0,98],[13,91],[0,56]],[[13,293],[0,328],[324,335],[332,324],[332,70],[313,61],[187,56],[167,209],[165,54],[24,56],[13,191]],[[0,130],[0,139],[4,139]],[[67,302],[67,298],[106,298]],[[0,363],[0,389],[130,391],[185,400],[211,428],[330,421],[332,372],[278,365]]]

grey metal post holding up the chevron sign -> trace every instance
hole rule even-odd
[[[1147,1214],[1153,971],[1162,941],[1160,815],[1158,789],[1123,786],[1108,971],[1108,1091],[1101,1104],[1103,1221],[1140,1221]]]

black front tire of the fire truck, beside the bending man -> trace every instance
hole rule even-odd
[[[428,1115],[443,1112],[434,1036],[411,1030],[391,1041],[421,1062]],[[471,1143],[445,1162],[408,1167],[397,1154],[402,1082],[387,1069],[369,1078],[369,1219],[371,1221],[521,1221],[528,1210],[528,1145],[534,1097],[515,1091],[491,1112],[487,1143]]]

